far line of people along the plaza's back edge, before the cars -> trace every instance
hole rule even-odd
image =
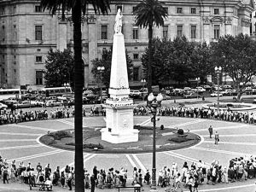
[[[86,113],[90,116],[106,115],[106,108],[102,106],[92,106],[90,108],[83,108],[83,115]],[[133,109],[134,115],[148,115],[151,109],[145,106],[137,106]],[[256,122],[256,113],[253,112],[238,112],[232,111],[230,108],[227,110],[212,108],[194,108],[194,107],[161,107],[157,108],[157,115],[160,116],[176,116],[187,118],[203,118],[203,119],[218,119],[224,121],[243,122],[253,124]],[[0,125],[20,123],[31,120],[42,119],[61,119],[70,118],[74,116],[74,108],[42,108],[40,110],[7,110],[3,108],[0,110]]]

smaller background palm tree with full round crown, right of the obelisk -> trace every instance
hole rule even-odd
[[[168,16],[164,3],[158,0],[143,0],[137,4],[133,14],[136,15],[136,25],[148,28],[148,93],[152,91],[152,36],[153,26],[163,26]]]

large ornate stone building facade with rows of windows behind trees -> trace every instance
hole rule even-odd
[[[108,15],[94,15],[90,7],[82,22],[84,86],[97,86],[91,61],[101,58],[103,49],[113,44],[117,9],[123,12],[125,48],[134,64],[131,86],[142,85],[140,58],[148,45],[148,31],[135,25],[133,9],[140,1],[116,1]],[[165,25],[154,28],[154,37],[185,35],[191,41],[218,41],[225,34],[252,31],[253,0],[162,0],[168,12]],[[44,87],[44,61],[50,48],[73,48],[73,23],[67,13],[51,15],[39,0],[0,0],[0,86]],[[251,27],[250,27],[251,26]],[[251,31],[250,31],[251,28]]]

